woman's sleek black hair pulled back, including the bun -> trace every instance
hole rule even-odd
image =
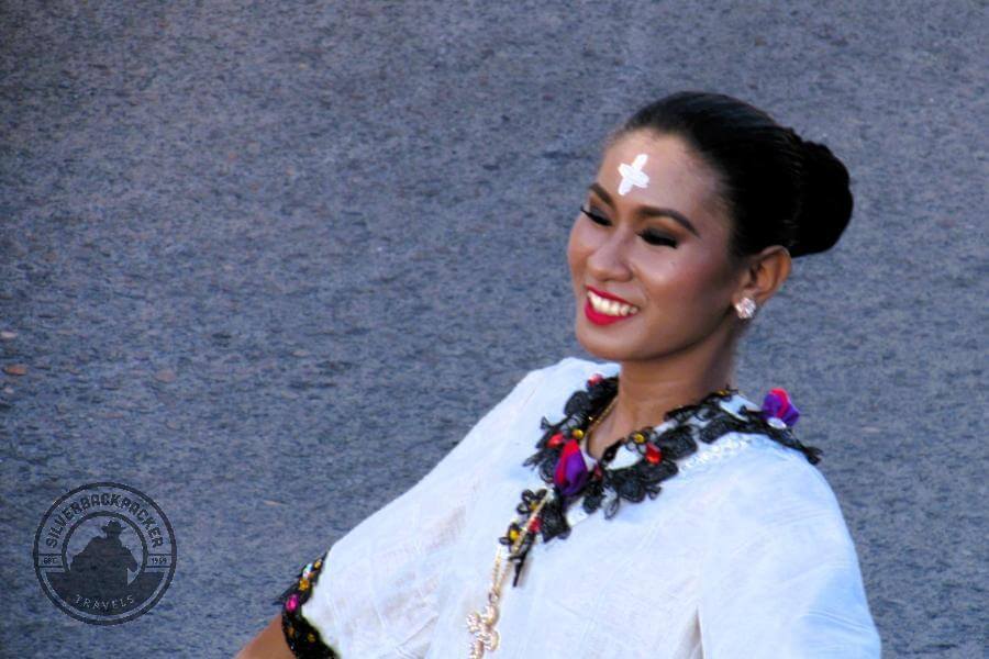
[[[640,109],[609,138],[638,130],[681,137],[721,179],[734,220],[730,256],[768,245],[792,257],[830,249],[852,217],[848,170],[823,144],[722,93],[681,91]]]

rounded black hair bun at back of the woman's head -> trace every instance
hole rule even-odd
[[[790,256],[831,249],[852,219],[848,170],[831,149],[800,141],[803,154],[803,198],[797,214],[797,235]]]

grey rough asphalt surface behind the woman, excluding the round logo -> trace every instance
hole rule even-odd
[[[740,383],[786,387],[825,450],[887,656],[982,656],[986,12],[0,2],[3,654],[232,654],[527,370],[587,357],[565,244],[600,142],[699,88],[852,171],[852,224],[794,263]],[[179,559],[95,627],[31,547],[105,479]]]

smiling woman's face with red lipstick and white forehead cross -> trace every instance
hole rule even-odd
[[[676,136],[637,131],[605,152],[567,245],[585,349],[613,361],[662,358],[733,322],[741,280],[716,185]],[[625,305],[601,306],[589,292]]]

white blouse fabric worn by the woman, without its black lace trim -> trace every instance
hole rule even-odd
[[[593,373],[567,357],[533,370],[422,480],[338,539],[299,612],[346,659],[468,657],[468,614],[525,489],[523,461]],[[725,410],[758,405],[735,394]],[[678,462],[662,492],[568,507],[509,571],[491,659],[879,657],[858,559],[834,493],[798,450],[731,433]],[[611,468],[630,460],[620,450]],[[590,465],[593,461],[584,454]],[[605,500],[607,504],[607,500]]]

